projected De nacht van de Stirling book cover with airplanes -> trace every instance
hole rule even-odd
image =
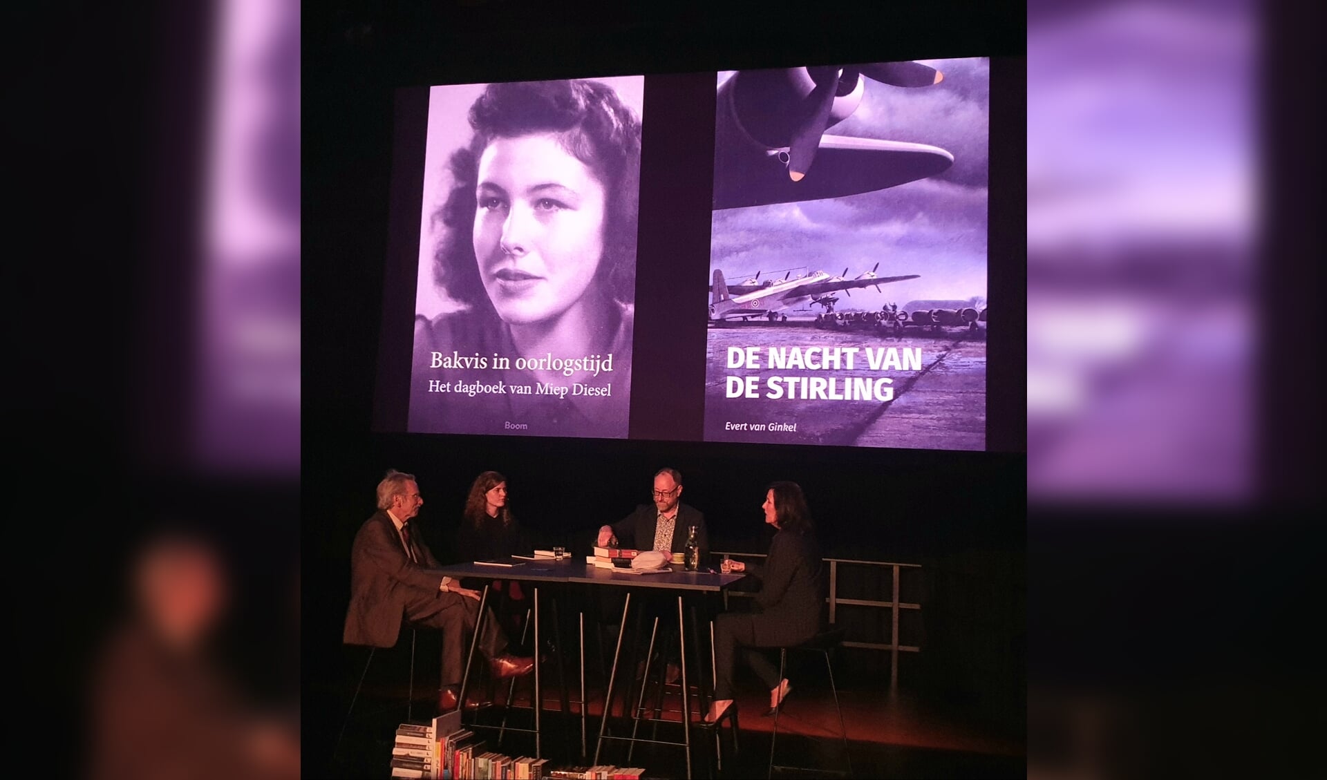
[[[989,60],[717,84],[705,440],[983,450]]]

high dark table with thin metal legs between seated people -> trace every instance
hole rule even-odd
[[[687,663],[686,663],[686,646],[685,646],[685,623],[683,623],[683,600],[687,596],[697,596],[703,593],[719,593],[727,586],[733,585],[738,580],[742,580],[746,574],[719,574],[711,573],[709,570],[701,572],[686,572],[681,570],[679,565],[673,565],[673,572],[657,573],[657,574],[632,574],[621,569],[605,569],[596,566],[593,564],[585,562],[584,558],[564,558],[556,561],[552,558],[536,558],[533,561],[524,558],[514,558],[514,566],[494,566],[486,564],[450,564],[434,569],[439,576],[447,576],[454,578],[472,577],[476,580],[515,580],[520,582],[533,584],[533,621],[535,621],[535,757],[541,757],[541,743],[540,743],[540,710],[543,710],[543,684],[540,677],[540,650],[543,645],[539,637],[539,584],[541,582],[568,582],[579,584],[588,588],[629,588],[629,589],[658,589],[674,592],[677,594],[677,618],[678,618],[678,637],[682,642],[681,653],[681,681],[682,681],[682,742],[681,743],[667,743],[678,744],[686,748],[686,776],[691,776],[691,711],[690,711],[690,691],[687,687]],[[488,619],[488,585],[484,585],[483,594],[479,600],[479,621]],[[594,763],[598,764],[600,751],[602,749],[605,739],[617,739],[628,742],[654,742],[654,740],[636,740],[632,738],[622,736],[605,736],[605,730],[608,726],[608,719],[612,710],[613,702],[613,686],[617,681],[617,667],[621,658],[622,650],[622,637],[626,631],[628,613],[632,606],[632,590],[626,593],[626,601],[622,605],[622,618],[618,623],[617,643],[613,651],[613,666],[608,677],[608,690],[604,691],[604,718],[598,728],[598,740],[594,746]],[[460,681],[459,702],[462,708],[464,708],[466,702],[466,686],[470,682],[470,669],[474,663],[475,649],[479,642],[479,631],[482,623],[475,626],[474,637],[470,641],[470,653],[466,658],[466,671]],[[584,647],[584,633],[580,637],[581,650],[581,746],[584,751],[585,744],[585,647]],[[703,707],[702,707],[703,708]]]

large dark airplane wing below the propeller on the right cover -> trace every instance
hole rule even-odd
[[[824,135],[816,164],[800,182],[776,155],[754,146],[715,154],[714,208],[841,198],[934,176],[954,155],[926,143]]]

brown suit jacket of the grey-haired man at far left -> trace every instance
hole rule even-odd
[[[391,647],[401,633],[406,604],[437,597],[442,576],[426,569],[442,564],[411,529],[415,564],[401,544],[391,517],[382,509],[373,513],[354,535],[350,551],[350,606],[345,613],[341,641],[346,645]]]

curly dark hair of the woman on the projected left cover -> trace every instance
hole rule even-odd
[[[568,154],[604,186],[604,255],[596,280],[612,298],[636,297],[636,228],[640,216],[641,121],[617,93],[596,81],[490,84],[470,106],[475,135],[451,155],[451,192],[433,220],[446,226],[434,251],[434,279],[447,294],[492,310],[474,251],[479,157],[494,138],[557,133]]]

